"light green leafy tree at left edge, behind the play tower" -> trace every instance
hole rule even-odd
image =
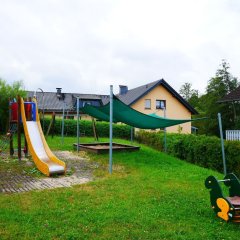
[[[23,82],[15,81],[8,84],[0,79],[0,131],[4,132],[7,128],[9,119],[9,99],[16,98],[18,95],[24,97],[26,92],[23,90]]]

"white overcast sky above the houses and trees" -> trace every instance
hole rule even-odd
[[[240,77],[239,0],[0,0],[0,78],[108,94],[164,78],[204,93],[222,59]]]

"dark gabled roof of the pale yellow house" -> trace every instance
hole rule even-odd
[[[160,80],[142,85],[140,87],[133,88],[131,90],[128,90],[125,94],[118,94],[117,96],[125,104],[132,105],[159,85],[162,85],[164,88],[166,88],[192,114],[198,114],[198,112],[180,94],[178,94],[164,79],[160,79]]]

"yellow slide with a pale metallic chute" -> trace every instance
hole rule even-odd
[[[36,121],[27,121],[24,101],[21,98],[21,116],[29,152],[37,168],[43,174],[47,176],[64,174],[66,164],[59,160],[48,147],[39,120],[37,102],[36,100],[34,102],[36,104]]]

